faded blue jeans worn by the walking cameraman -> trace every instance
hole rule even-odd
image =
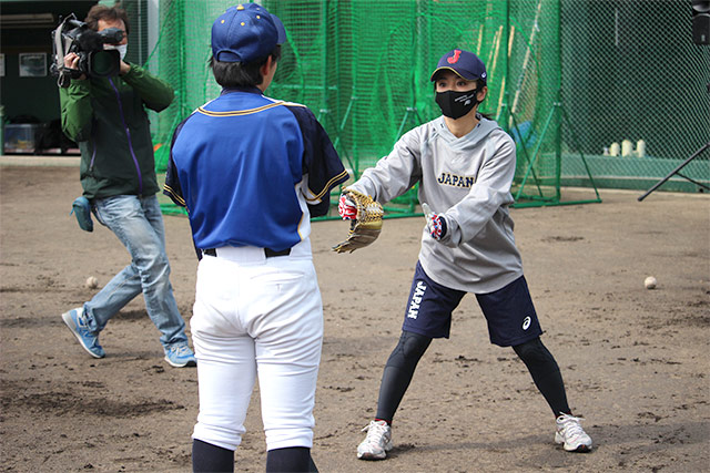
[[[131,264],[115,275],[93,299],[84,304],[89,327],[101,331],[109,320],[143,292],[148,315],[162,332],[165,350],[186,343],[183,320],[170,284],[165,229],[158,197],[116,195],[93,202],[97,219],[106,226],[131,254]]]

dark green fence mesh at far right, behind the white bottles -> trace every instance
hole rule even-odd
[[[710,48],[693,44],[691,11],[684,0],[562,2],[565,103],[598,185],[648,188],[710,142]],[[684,174],[710,184],[709,158]],[[562,160],[565,183],[584,184]],[[702,191],[681,177],[663,188]]]

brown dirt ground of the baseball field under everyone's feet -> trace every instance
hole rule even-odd
[[[195,369],[162,359],[142,298],[91,359],[61,321],[128,264],[105,228],[79,229],[75,167],[0,167],[2,471],[187,472]],[[662,471],[710,465],[710,196],[601,191],[602,204],[514,209],[544,341],[589,454],[552,442],[554,419],[510,349],[491,346],[473,296],[452,338],[425,354],[386,462],[355,456],[399,333],[420,218],[388,219],[369,248],[329,250],[346,224],[318,222],[314,260],[325,308],[313,456],[322,472]],[[564,189],[567,199],[587,189]],[[191,317],[196,259],[187,220],[165,217],[172,282]],[[658,287],[647,290],[653,275]],[[255,393],[237,471],[263,471]]]

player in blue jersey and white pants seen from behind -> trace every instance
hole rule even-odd
[[[305,106],[264,95],[286,40],[256,3],[212,27],[222,94],[173,135],[165,193],[187,208],[201,253],[190,321],[200,390],[194,471],[233,471],[258,373],[266,471],[316,471],[313,408],[323,305],[310,219],[348,178]]]

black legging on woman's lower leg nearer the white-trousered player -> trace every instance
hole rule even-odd
[[[376,419],[392,423],[395,412],[409,387],[414,370],[432,343],[430,337],[403,331],[399,342],[392,351],[379,384]]]

